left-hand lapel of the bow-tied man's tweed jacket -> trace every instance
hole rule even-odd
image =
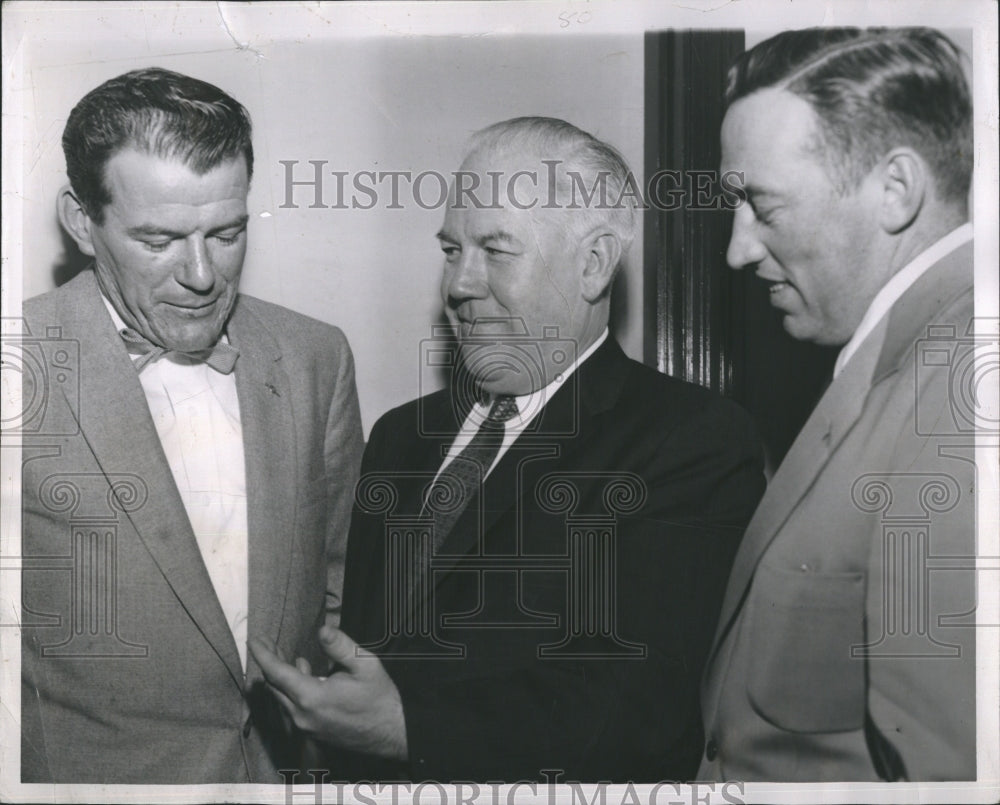
[[[128,511],[139,539],[191,619],[242,686],[232,632],[153,425],[139,377],[115,331],[93,272],[73,280],[78,293],[65,305],[67,335],[80,342],[80,432],[105,475],[138,476],[148,498]],[[122,578],[122,583],[128,583]]]

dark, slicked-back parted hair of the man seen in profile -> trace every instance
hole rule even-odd
[[[729,69],[726,104],[784,89],[821,121],[842,190],[897,146],[930,165],[941,198],[964,202],[972,181],[972,102],[962,51],[930,28],[785,31]]]

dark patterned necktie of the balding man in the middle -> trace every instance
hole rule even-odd
[[[428,507],[434,517],[434,552],[444,543],[462,512],[482,490],[503,444],[504,423],[517,416],[517,400],[496,397],[490,412],[469,442],[441,470],[428,492]]]

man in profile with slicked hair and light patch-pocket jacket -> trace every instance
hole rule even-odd
[[[727,259],[834,378],[737,553],[699,779],[976,777],[971,102],[927,29],[792,31],[729,74]],[[966,378],[967,379],[967,378]]]

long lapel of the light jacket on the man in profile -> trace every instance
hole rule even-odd
[[[747,526],[730,573],[713,654],[742,605],[761,556],[861,416],[872,387],[899,370],[933,314],[972,287],[971,265],[970,243],[928,269],[893,305],[830,384]]]

